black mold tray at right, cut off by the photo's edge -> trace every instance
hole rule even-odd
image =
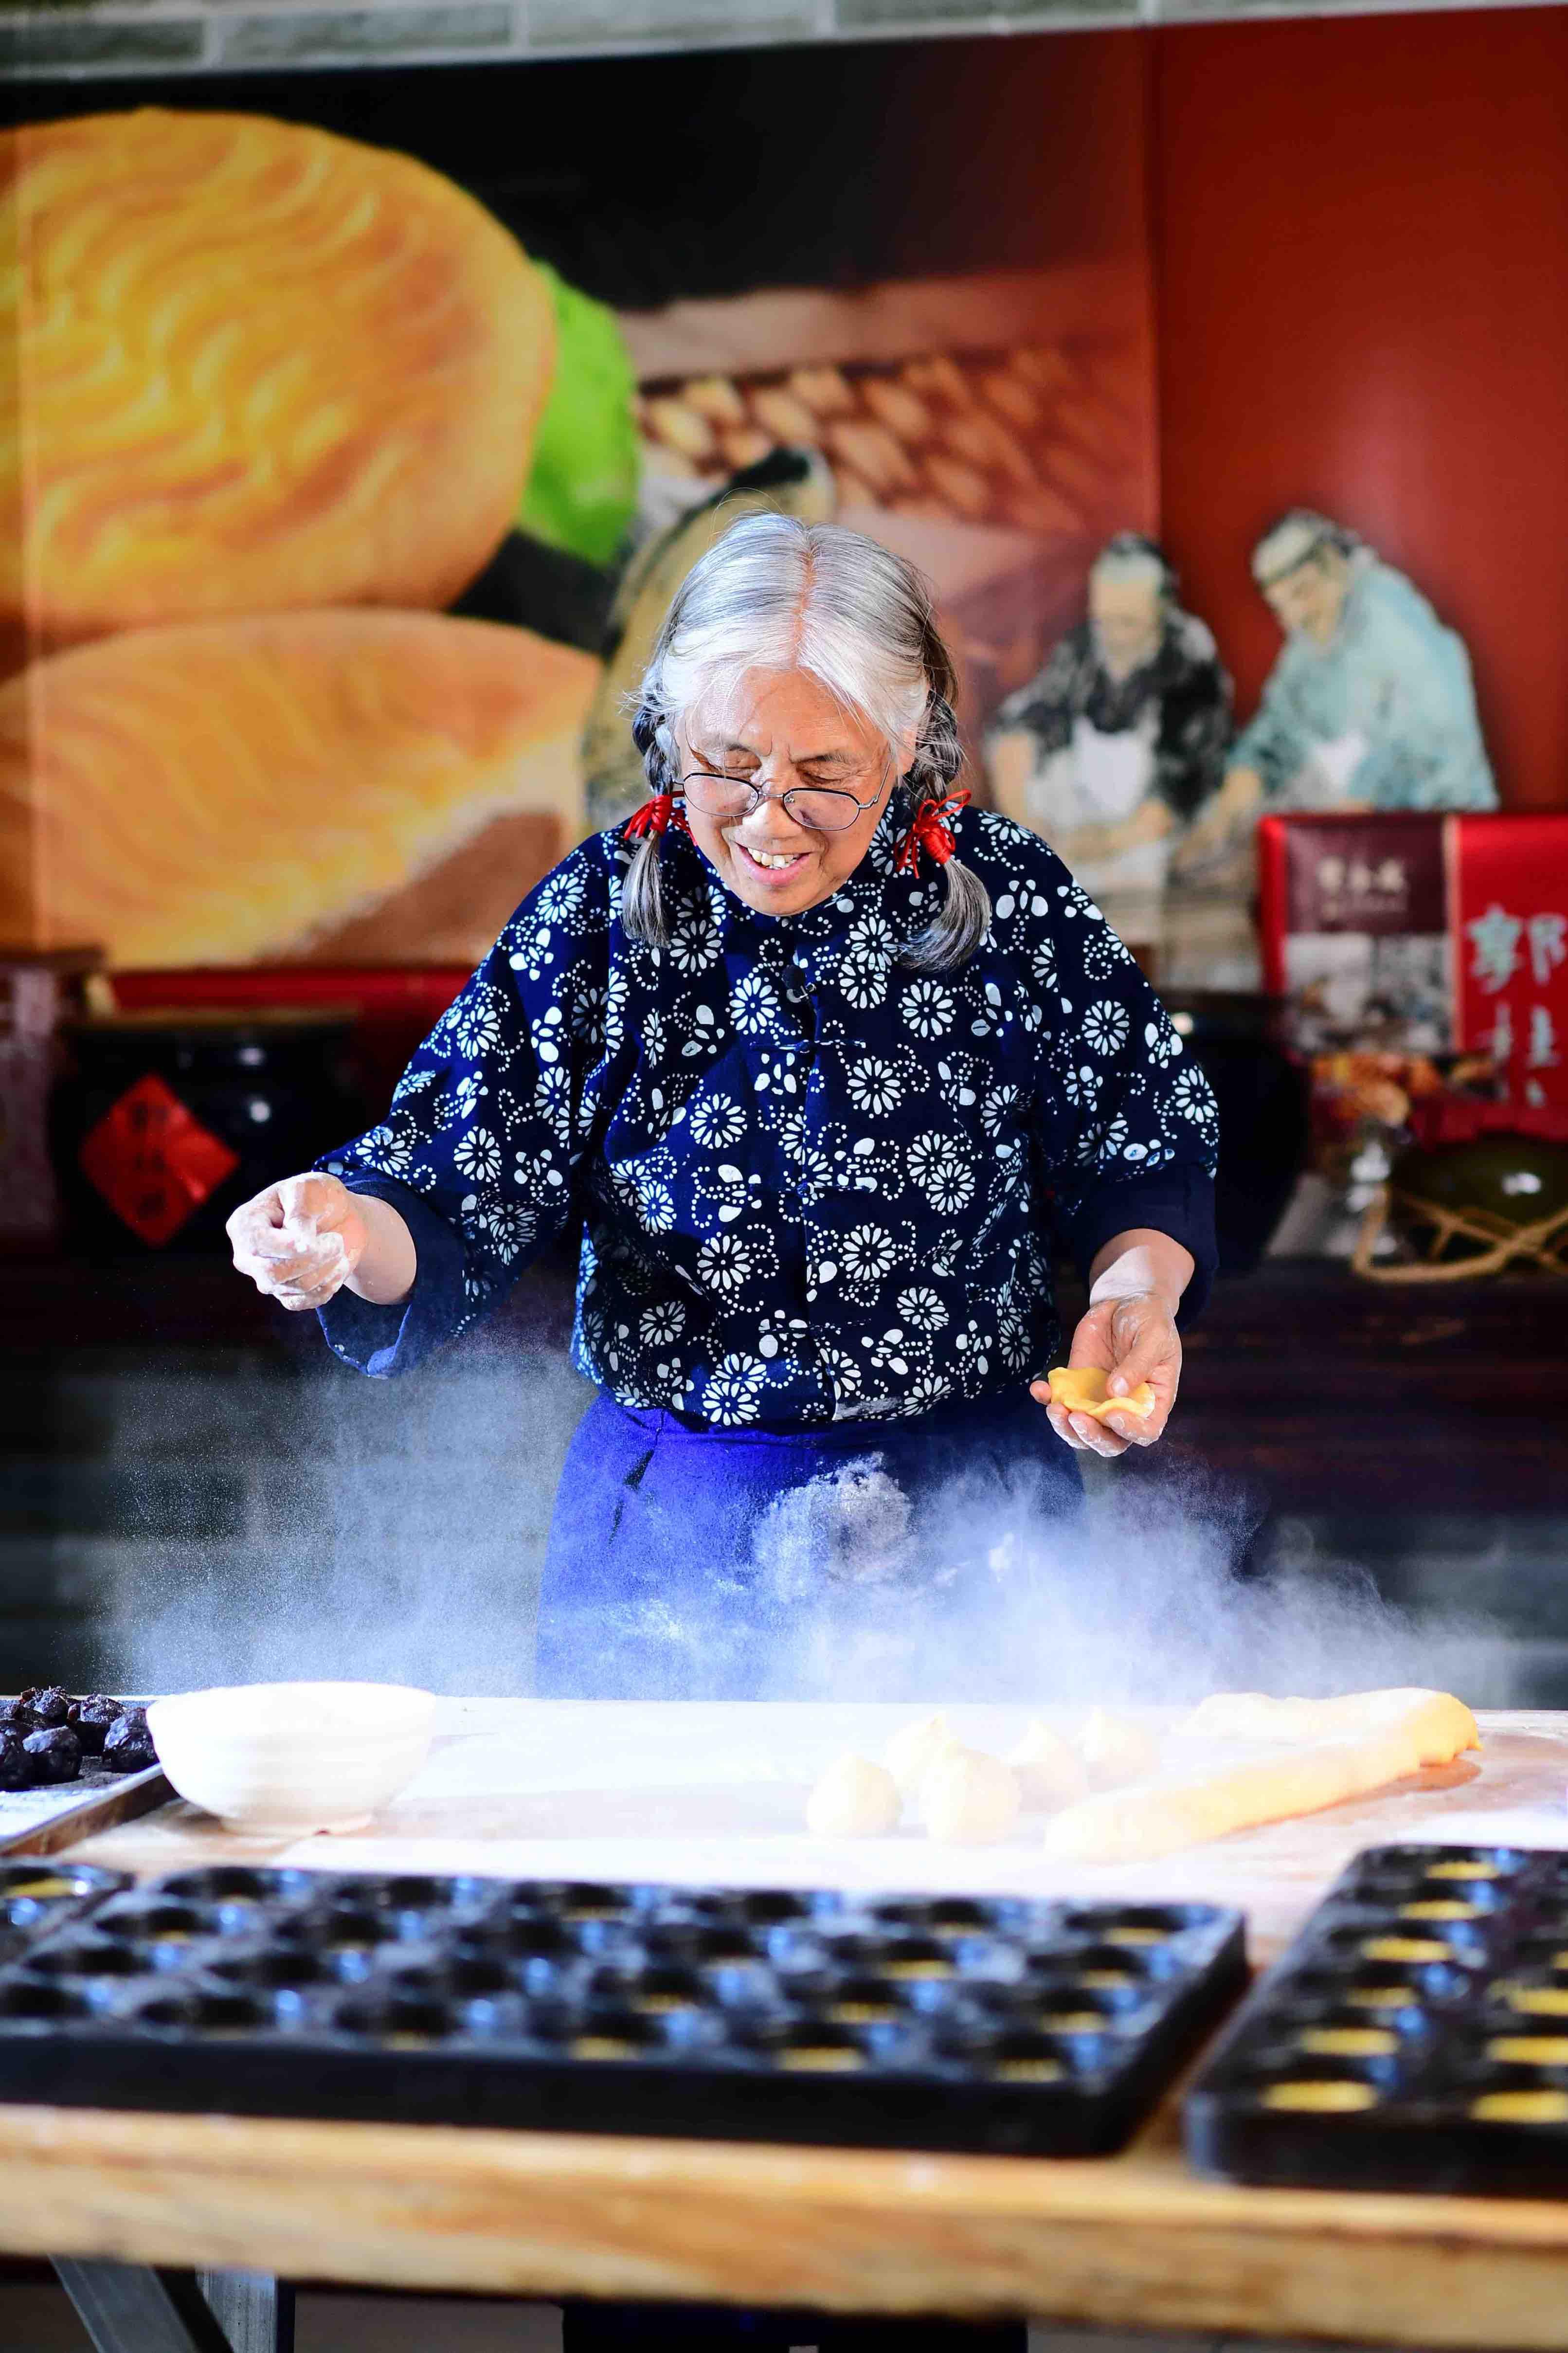
[[[1568,2195],[1568,1854],[1368,1847],[1184,2104],[1227,2181]]]

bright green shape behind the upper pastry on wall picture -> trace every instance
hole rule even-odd
[[[614,562],[638,504],[636,376],[614,311],[534,261],[556,301],[556,379],[534,438],[518,529],[591,565]]]

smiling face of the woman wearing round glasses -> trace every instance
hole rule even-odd
[[[685,713],[676,744],[683,779],[763,788],[756,809],[720,816],[702,809],[687,784],[685,816],[720,882],[765,915],[798,915],[848,882],[913,758],[913,729],[890,746],[808,671],[746,671],[730,694]],[[812,786],[859,802],[855,821],[841,833],[798,824],[779,795]]]

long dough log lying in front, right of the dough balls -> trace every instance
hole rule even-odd
[[[1326,1805],[1403,1781],[1420,1767],[1420,1748],[1401,1729],[1283,1748],[1245,1765],[1220,1765],[1069,1805],[1045,1826],[1045,1852],[1076,1864],[1144,1864],[1264,1821],[1318,1814]]]

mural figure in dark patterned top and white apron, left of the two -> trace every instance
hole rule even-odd
[[[1215,640],[1182,612],[1161,548],[1118,532],[1088,581],[1088,619],[998,711],[996,805],[1043,833],[1111,922],[1158,936],[1172,845],[1210,800],[1231,736]]]

